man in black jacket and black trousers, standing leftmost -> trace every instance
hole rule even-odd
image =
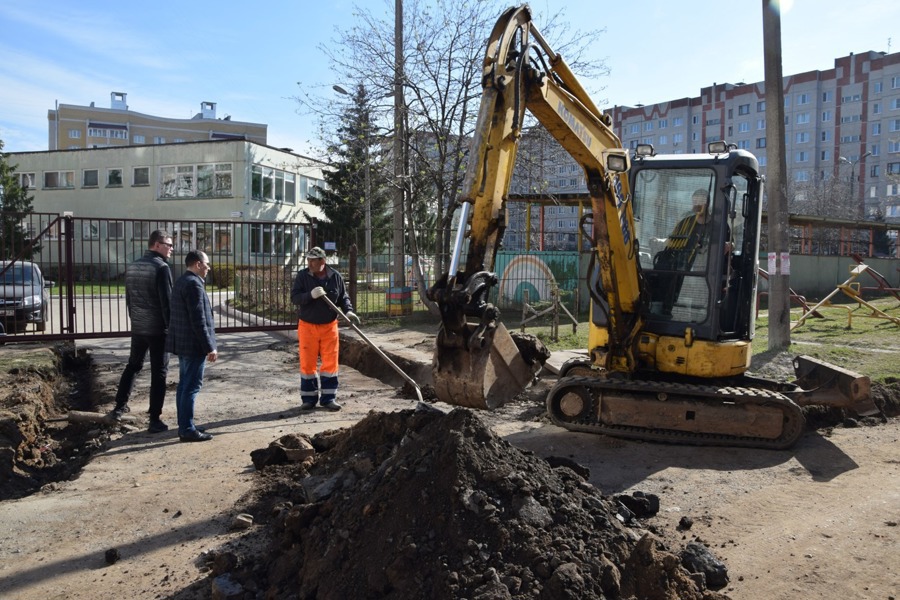
[[[172,256],[172,236],[157,229],[150,234],[147,251],[125,271],[125,304],[131,318],[131,353],[119,380],[113,416],[129,411],[128,399],[134,388],[134,378],[144,367],[150,352],[150,427],[151,433],[166,431],[162,422],[163,401],[166,395],[166,374],[169,355],[166,354],[166,332],[169,328],[169,300],[172,297],[172,271],[166,262]]]

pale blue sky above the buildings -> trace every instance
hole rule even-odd
[[[356,7],[392,15],[393,5],[3,0],[0,140],[6,152],[46,150],[47,111],[56,103],[108,108],[115,91],[128,94],[133,111],[170,118],[191,118],[201,102],[215,102],[219,118],[268,124],[269,145],[316,156],[315,116],[301,114],[295,98],[349,87],[335,81],[322,46],[337,49]],[[583,81],[601,108],[696,97],[713,83],[764,77],[762,0],[530,5],[538,28],[562,11],[573,29],[605,30],[587,56],[604,60],[610,73]],[[781,34],[785,76],[833,68],[851,52],[898,52],[900,2],[782,0]]]

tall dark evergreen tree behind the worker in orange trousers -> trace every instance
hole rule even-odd
[[[327,187],[316,187],[315,197],[310,197],[329,221],[319,224],[319,237],[335,242],[341,251],[356,244],[360,254],[365,251],[367,193],[371,196],[372,253],[379,254],[391,238],[390,165],[372,122],[370,101],[365,86],[359,84],[328,146],[330,168],[323,173]]]

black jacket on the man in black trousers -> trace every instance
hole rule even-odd
[[[135,335],[165,335],[169,327],[172,271],[161,254],[144,252],[125,270],[125,305]]]

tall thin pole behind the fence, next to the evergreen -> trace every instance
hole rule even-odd
[[[403,126],[403,0],[394,0],[394,287],[406,286],[406,260],[403,248],[404,175]]]

